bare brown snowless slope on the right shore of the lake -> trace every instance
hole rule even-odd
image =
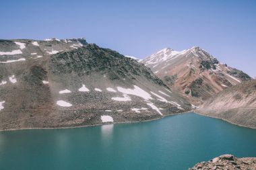
[[[195,112],[256,128],[256,80],[224,89],[207,99]]]

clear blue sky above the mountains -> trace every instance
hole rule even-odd
[[[84,37],[137,58],[199,46],[256,77],[254,0],[1,0],[0,11],[0,39]]]

